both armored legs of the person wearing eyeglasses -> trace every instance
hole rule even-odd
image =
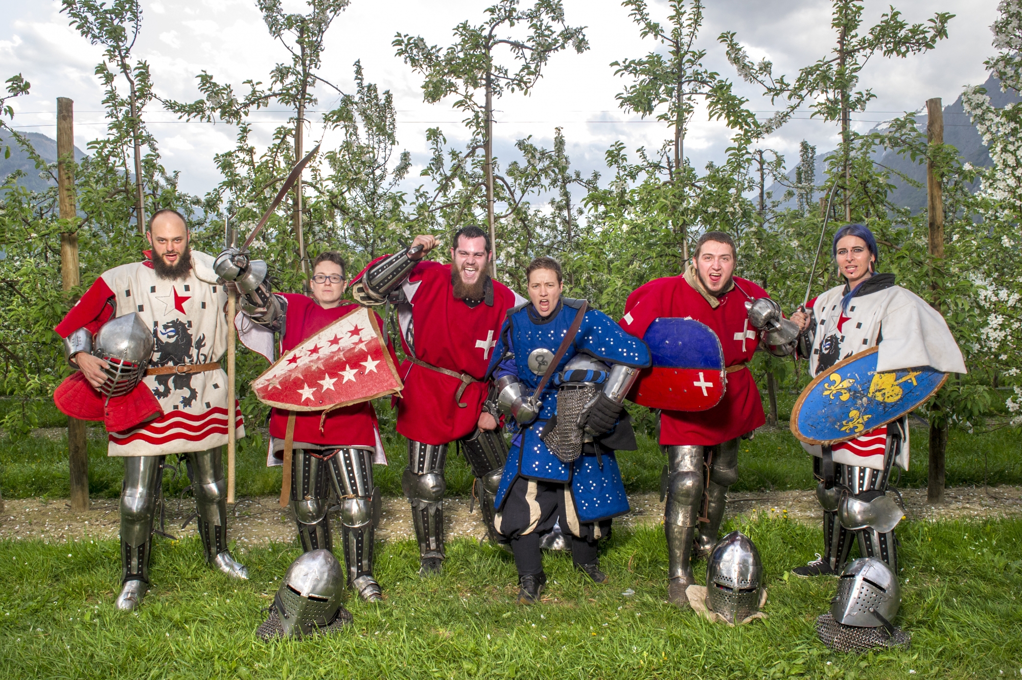
[[[367,449],[323,451],[295,449],[291,457],[291,509],[306,552],[333,550],[327,500],[332,487],[340,499],[341,544],[347,584],[366,601],[381,598],[373,577],[375,541],[372,452]],[[329,486],[328,486],[329,485]],[[378,504],[378,500],[376,501]]]

